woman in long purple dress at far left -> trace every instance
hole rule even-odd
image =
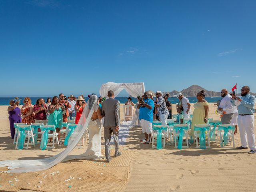
[[[21,123],[19,104],[20,104],[19,100],[16,100],[16,102],[15,102],[15,100],[10,100],[11,106],[8,107],[12,139],[14,139],[14,134],[15,134],[14,123]]]

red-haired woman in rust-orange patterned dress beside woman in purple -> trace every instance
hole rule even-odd
[[[24,105],[20,110],[20,114],[22,114],[22,123],[30,125],[35,122],[34,109],[29,97],[24,98]]]

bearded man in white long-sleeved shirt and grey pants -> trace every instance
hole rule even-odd
[[[231,124],[231,120],[234,116],[235,107],[231,104],[231,95],[228,94],[227,89],[221,90],[222,99],[220,100],[220,105],[218,106],[218,110],[223,114],[220,116],[222,124]]]

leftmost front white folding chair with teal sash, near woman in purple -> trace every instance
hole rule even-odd
[[[20,136],[21,136],[19,129],[25,129],[25,128],[28,128],[28,130],[24,130],[25,139],[24,139],[24,143],[22,145],[24,145],[26,143],[26,139],[27,139],[27,145],[26,145],[26,147],[23,147],[23,148],[28,149],[30,138],[32,138],[31,139],[31,144],[35,147],[34,134],[33,134],[31,125],[16,125],[16,127],[17,127],[17,133],[18,134],[17,134],[17,141],[16,141],[15,149],[18,148],[18,142],[19,142]]]

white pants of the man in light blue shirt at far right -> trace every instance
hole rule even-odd
[[[247,144],[249,144],[250,150],[256,150],[254,136],[254,115],[238,115],[237,121],[242,147],[247,147]]]

